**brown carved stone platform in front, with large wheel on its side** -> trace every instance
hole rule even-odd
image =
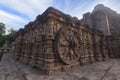
[[[38,67],[42,74],[102,61],[108,54],[101,31],[52,7],[26,25],[23,32],[16,37],[15,58],[18,55],[18,60]]]

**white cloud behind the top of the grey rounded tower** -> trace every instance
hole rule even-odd
[[[94,9],[94,7],[97,4],[103,4],[103,5],[107,6],[107,7],[110,7],[111,9],[114,9],[117,12],[120,12],[119,5],[116,5],[118,3],[118,1],[117,0],[116,1],[115,0],[93,0],[89,4],[87,4],[87,1],[86,1],[84,3],[79,3],[79,6],[76,6],[73,9],[69,9],[67,13],[69,13],[72,16],[76,16],[79,19],[81,19],[82,15],[84,13],[86,13],[86,12],[92,12],[92,10]]]

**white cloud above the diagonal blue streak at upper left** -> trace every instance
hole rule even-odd
[[[0,3],[33,19],[34,15],[38,15],[52,0],[0,0]]]

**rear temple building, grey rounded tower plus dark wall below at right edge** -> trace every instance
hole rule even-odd
[[[110,57],[120,57],[120,14],[99,4],[91,13],[84,14],[82,20],[108,36]]]

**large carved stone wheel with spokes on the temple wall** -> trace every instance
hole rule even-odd
[[[80,58],[79,29],[62,27],[55,36],[55,50],[66,64],[77,63]]]

